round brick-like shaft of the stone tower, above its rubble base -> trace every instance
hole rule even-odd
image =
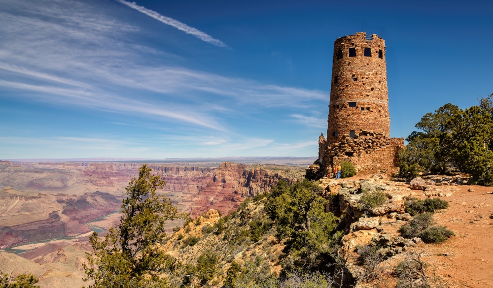
[[[334,42],[327,144],[373,134],[390,135],[385,41],[358,32]]]

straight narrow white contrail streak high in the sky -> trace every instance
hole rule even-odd
[[[162,22],[166,25],[170,25],[170,26],[172,26],[172,27],[174,27],[180,31],[187,33],[187,34],[193,35],[193,36],[201,39],[202,41],[211,43],[214,46],[229,48],[229,46],[226,45],[224,42],[222,42],[221,40],[212,38],[211,35],[209,35],[209,34],[206,34],[206,33],[202,32],[198,29],[195,29],[193,27],[190,27],[184,23],[179,22],[178,20],[173,19],[173,18],[163,16],[156,11],[145,8],[144,6],[139,6],[139,5],[137,5],[136,2],[129,2],[129,1],[125,1],[125,0],[115,0],[115,1],[120,2],[122,4],[125,4],[132,9],[135,9],[135,10],[137,10],[137,11],[139,11],[139,12],[141,12],[147,16],[150,16],[150,17],[156,19],[159,22]]]

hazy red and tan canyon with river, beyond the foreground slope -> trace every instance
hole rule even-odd
[[[119,220],[125,187],[141,165],[0,161],[0,270],[33,271],[41,287],[82,286],[89,236],[92,231],[104,234]],[[159,193],[192,218],[209,209],[227,214],[246,197],[268,191],[280,179],[292,183],[305,172],[303,165],[291,163],[147,165],[166,181]],[[167,231],[182,224],[170,221]]]

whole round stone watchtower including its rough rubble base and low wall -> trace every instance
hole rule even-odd
[[[318,164],[351,161],[358,170],[394,167],[403,138],[389,138],[385,41],[358,32],[337,38],[330,89],[327,138],[319,137]]]

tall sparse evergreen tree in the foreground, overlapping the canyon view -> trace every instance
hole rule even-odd
[[[122,218],[103,238],[94,232],[89,241],[94,254],[87,253],[84,280],[93,280],[90,288],[166,287],[163,272],[173,270],[177,262],[160,248],[166,233],[166,220],[185,217],[178,214],[171,199],[156,190],[166,185],[158,175],[151,175],[146,164],[139,177],[125,188]]]

